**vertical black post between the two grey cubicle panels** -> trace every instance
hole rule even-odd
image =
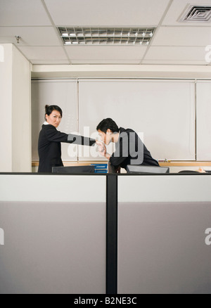
[[[106,177],[106,294],[117,294],[117,176]]]

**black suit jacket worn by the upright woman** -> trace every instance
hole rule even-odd
[[[43,124],[38,140],[38,172],[52,172],[52,167],[63,166],[60,150],[61,142],[92,146],[96,141],[83,136],[65,134],[51,124]]]

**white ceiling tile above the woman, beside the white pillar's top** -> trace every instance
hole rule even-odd
[[[63,47],[20,46],[18,49],[20,49],[20,51],[29,60],[67,60],[67,56],[65,55],[65,51],[63,51]]]

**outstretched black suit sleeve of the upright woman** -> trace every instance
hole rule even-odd
[[[46,129],[46,139],[51,142],[65,142],[65,143],[74,143],[82,146],[93,146],[96,142],[95,139],[91,139],[84,136],[78,136],[74,134],[65,134],[61,131],[58,131],[56,127],[49,125]]]

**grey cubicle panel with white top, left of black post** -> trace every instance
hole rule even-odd
[[[106,293],[106,177],[0,183],[0,293]]]

